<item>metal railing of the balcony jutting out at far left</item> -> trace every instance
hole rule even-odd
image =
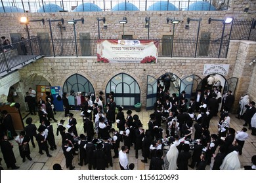
[[[9,72],[18,65],[41,55],[37,38],[26,41],[12,41],[9,45],[0,44],[0,73]]]

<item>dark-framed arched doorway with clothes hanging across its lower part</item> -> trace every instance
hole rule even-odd
[[[91,95],[92,100],[95,101],[93,85],[87,78],[79,74],[74,74],[67,78],[63,85],[63,92],[72,93],[72,95],[81,92],[82,95]]]

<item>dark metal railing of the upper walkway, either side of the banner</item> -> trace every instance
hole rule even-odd
[[[101,38],[101,39],[121,39]],[[96,41],[98,37],[91,39],[77,39],[77,56],[96,56]],[[139,40],[145,40],[140,38]],[[150,40],[160,41],[158,56],[160,57],[188,57],[188,58],[218,58],[221,41],[201,39],[196,44],[196,39],[156,39]],[[173,44],[172,44],[173,41]],[[55,56],[76,56],[74,38],[68,39],[39,39],[41,54],[45,56],[53,56],[53,46]],[[173,45],[173,48],[172,48]],[[220,58],[226,58],[228,39],[223,39]],[[196,46],[198,49],[196,49]],[[173,49],[173,50],[172,50]]]

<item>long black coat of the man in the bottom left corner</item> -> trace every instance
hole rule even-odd
[[[16,158],[14,156],[12,148],[13,146],[9,141],[1,141],[1,151],[7,168],[14,167],[16,163]]]

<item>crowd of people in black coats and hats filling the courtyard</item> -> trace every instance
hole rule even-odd
[[[51,120],[57,120],[54,118],[55,111],[50,92],[45,99],[47,103],[43,99],[36,103],[39,107],[39,127],[33,124],[32,118],[27,118],[24,131],[17,135],[13,125],[10,125],[11,120],[6,122],[6,111],[3,111],[3,124],[10,125],[6,128],[11,132],[12,138],[16,136],[15,142],[18,143],[23,162],[26,158],[32,160],[29,143],[31,141],[35,148],[34,137],[39,146],[39,154],[43,155],[44,151],[51,157],[49,147],[51,151],[56,150],[54,136],[60,135],[66,168],[70,170],[75,169],[72,163],[74,156],[79,156],[79,166],[88,165],[89,169],[112,167],[114,158],[119,158],[120,169],[133,169],[134,164],[130,162],[129,165],[127,158],[131,148],[135,149],[135,158],[142,156],[142,163],[148,163],[150,159],[152,170],[187,170],[188,167],[203,170],[207,165],[212,165],[213,170],[240,169],[238,156],[242,154],[244,142],[249,136],[245,126],[249,125],[252,131],[255,128],[253,123],[251,124],[256,111],[255,103],[244,101],[247,97],[241,99],[242,107],[237,117],[243,118],[245,124],[241,131],[235,131],[230,127],[229,116],[234,103],[232,91],[221,95],[217,86],[211,87],[206,86],[204,91],[198,90],[188,104],[186,92],[182,91],[179,96],[175,93],[170,96],[169,90],[163,90],[161,84],[158,84],[158,99],[154,104],[154,112],[149,116],[148,127],[142,126],[139,116],[132,115],[132,110],[127,110],[125,114],[123,107],[116,107],[114,93],[108,95],[104,104],[102,92],[94,102],[90,96],[86,96],[85,102],[81,105],[82,134],[77,133],[77,119],[69,109],[67,93],[64,93],[62,99],[64,116],[68,116],[69,120],[67,124],[60,120],[56,133],[51,124]],[[25,99],[27,102],[30,101],[28,105],[31,105],[29,108],[32,115],[35,114],[33,95],[30,88]],[[211,118],[217,116],[218,112],[221,112],[217,125],[218,133],[210,134]],[[1,137],[1,150],[7,168],[18,169],[15,157],[12,156],[12,144],[9,142],[12,139],[8,139],[5,131],[1,132]],[[255,162],[255,158],[252,161]],[[255,163],[251,168],[255,169]]]

